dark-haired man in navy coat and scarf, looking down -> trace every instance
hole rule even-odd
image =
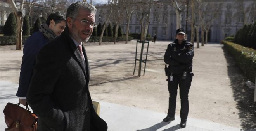
[[[33,67],[39,50],[49,41],[61,35],[66,27],[66,18],[61,12],[52,13],[46,22],[40,25],[39,31],[33,33],[25,42],[21,72],[19,76],[19,87],[16,96],[19,102],[26,105],[26,95],[30,79],[33,75]]]

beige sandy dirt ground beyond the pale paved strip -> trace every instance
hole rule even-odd
[[[124,44],[85,44],[91,69],[92,99],[150,111],[167,113],[168,88],[164,75],[164,52],[170,42],[150,42],[145,75],[135,74],[136,41]],[[138,44],[138,54],[141,44]],[[144,48],[144,56],[147,45]],[[22,51],[15,45],[0,46],[0,80],[19,83]],[[256,129],[254,89],[246,87],[246,78],[223,45],[207,44],[195,48],[194,77],[189,92],[189,118],[213,121],[243,130]],[[177,96],[176,115],[180,113]]]

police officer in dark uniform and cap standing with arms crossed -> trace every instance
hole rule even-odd
[[[186,127],[187,116],[189,113],[189,88],[192,81],[192,59],[194,56],[194,45],[187,41],[184,29],[176,30],[176,39],[169,44],[164,54],[164,62],[168,64],[166,69],[169,109],[164,122],[173,121],[175,118],[176,96],[178,85],[180,88],[180,127]]]

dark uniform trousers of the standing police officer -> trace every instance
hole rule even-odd
[[[180,119],[181,121],[187,121],[189,114],[189,88],[191,85],[192,76],[187,72],[186,79],[182,79],[182,74],[173,74],[173,81],[170,81],[170,75],[168,75],[168,91],[169,91],[169,109],[168,116],[174,117],[176,108],[176,96],[178,86],[180,87]]]

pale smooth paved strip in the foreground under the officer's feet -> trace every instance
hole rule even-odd
[[[0,130],[6,125],[3,109],[7,102],[17,103],[18,84],[0,81]],[[164,113],[122,106],[100,101],[100,117],[108,124],[109,131],[240,131],[239,128],[225,126],[205,120],[188,118],[187,127],[180,128],[180,117],[164,123]]]

